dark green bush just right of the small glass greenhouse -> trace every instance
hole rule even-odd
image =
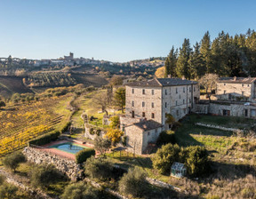
[[[188,174],[196,176],[204,174],[209,169],[208,153],[205,147],[191,146],[187,147],[187,158],[185,165],[188,169]]]

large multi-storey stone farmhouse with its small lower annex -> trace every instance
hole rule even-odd
[[[175,120],[187,115],[199,101],[197,82],[180,78],[158,78],[125,85],[125,115],[121,128],[127,136],[128,151],[147,153],[148,145],[155,143],[161,131],[171,128],[166,115]]]

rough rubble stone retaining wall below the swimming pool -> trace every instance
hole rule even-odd
[[[28,162],[36,164],[53,164],[58,170],[65,173],[72,180],[83,179],[83,169],[74,160],[62,158],[34,147],[25,147],[22,153]]]

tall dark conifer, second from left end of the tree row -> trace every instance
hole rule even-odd
[[[179,58],[177,60],[176,73],[178,77],[190,78],[190,71],[188,68],[188,60],[191,53],[189,39],[184,39],[182,48],[180,48]]]

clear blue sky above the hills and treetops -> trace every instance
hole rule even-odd
[[[129,61],[256,29],[254,0],[0,0],[0,57]]]

